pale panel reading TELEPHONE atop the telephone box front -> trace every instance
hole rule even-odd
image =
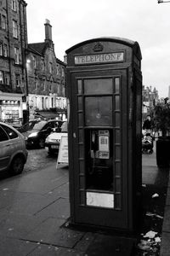
[[[94,63],[108,63],[108,62],[119,62],[124,60],[123,52],[114,52],[100,55],[82,55],[75,56],[75,64],[94,64]]]

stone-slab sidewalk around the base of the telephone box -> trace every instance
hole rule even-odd
[[[156,170],[155,162],[144,172]],[[55,165],[0,183],[0,255],[3,256],[133,256],[135,239],[102,231],[76,230],[70,217],[67,168]],[[150,176],[150,182],[153,177]],[[163,223],[161,256],[170,255],[170,182]]]

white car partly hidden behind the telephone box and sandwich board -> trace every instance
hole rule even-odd
[[[59,153],[59,143],[62,136],[67,134],[67,121],[61,126],[61,131],[54,131],[46,137],[45,148],[48,150],[48,154],[58,154]]]

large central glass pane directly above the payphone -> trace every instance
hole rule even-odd
[[[112,125],[112,97],[86,97],[85,123],[88,126]]]

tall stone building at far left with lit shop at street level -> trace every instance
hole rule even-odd
[[[26,2],[0,1],[0,119],[28,119]]]

